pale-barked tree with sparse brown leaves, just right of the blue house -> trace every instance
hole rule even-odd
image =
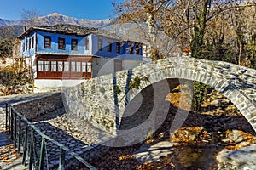
[[[144,31],[149,57],[154,61],[163,57],[154,47],[157,46],[157,34],[162,27],[159,22],[160,16],[171,2],[171,0],[126,0],[123,3],[113,3],[120,23],[132,21]],[[142,22],[146,24],[147,29],[143,28]]]

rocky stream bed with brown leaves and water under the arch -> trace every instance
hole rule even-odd
[[[177,88],[166,96],[172,106],[165,122],[150,139],[143,144],[111,148],[91,163],[98,169],[230,169],[230,163],[241,169],[248,167],[245,162],[237,167],[237,163],[246,161],[241,157],[256,160],[255,150],[243,152],[256,144],[255,132],[235,105],[212,90],[201,112],[194,113],[189,111],[189,105],[183,105],[186,102],[180,106],[182,93]],[[189,115],[170,136],[177,108],[189,111]],[[231,158],[236,163],[230,162],[233,151],[240,154]],[[248,162],[251,167],[256,166],[253,163]]]

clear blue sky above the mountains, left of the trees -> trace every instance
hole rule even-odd
[[[22,11],[35,9],[41,16],[60,13],[67,16],[102,20],[113,18],[114,0],[0,0],[0,18],[20,20]]]

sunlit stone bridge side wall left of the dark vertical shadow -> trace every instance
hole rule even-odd
[[[114,130],[116,116],[113,99],[113,77],[96,77],[74,88],[62,90],[62,93],[65,96],[64,105],[67,111],[76,113],[102,130],[108,132]]]

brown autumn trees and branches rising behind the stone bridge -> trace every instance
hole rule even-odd
[[[132,21],[142,30],[148,26],[138,34],[145,37],[153,60],[166,57],[154,49],[160,47],[162,41],[156,35],[162,31],[180,49],[191,47],[192,57],[246,66],[250,60],[252,64],[253,57],[248,56],[246,46],[255,42],[256,2],[253,0],[126,0],[113,6],[120,23]]]

